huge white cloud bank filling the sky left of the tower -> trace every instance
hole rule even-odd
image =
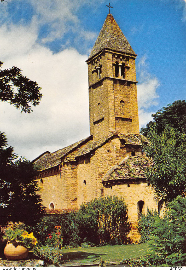
[[[37,29],[32,24],[3,25],[0,37],[6,46],[0,47],[2,68],[20,67],[43,93],[31,114],[21,114],[13,105],[1,102],[1,131],[15,153],[34,159],[43,151],[55,151],[88,136],[87,56],[75,49],[53,54],[36,42]]]

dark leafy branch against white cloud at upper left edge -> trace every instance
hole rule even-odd
[[[41,100],[41,88],[36,82],[23,76],[21,69],[12,67],[1,70],[2,64],[0,61],[0,100],[21,108],[21,112],[30,113],[31,105],[36,106]]]

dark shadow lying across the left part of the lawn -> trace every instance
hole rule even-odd
[[[85,251],[75,251],[75,252],[65,252],[63,253],[62,260],[64,261],[81,261],[86,260],[86,261],[93,261],[96,260],[97,258],[101,257],[101,255],[105,255],[106,253],[90,253],[90,252],[85,252]]]

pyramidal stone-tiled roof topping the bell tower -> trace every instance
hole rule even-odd
[[[88,59],[104,48],[136,55],[112,14],[107,15]]]

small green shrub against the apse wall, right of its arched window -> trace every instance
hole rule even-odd
[[[140,242],[145,243],[149,241],[149,237],[153,234],[156,225],[155,217],[158,216],[158,213],[147,208],[147,214],[142,214],[138,221],[138,230],[141,234]]]

